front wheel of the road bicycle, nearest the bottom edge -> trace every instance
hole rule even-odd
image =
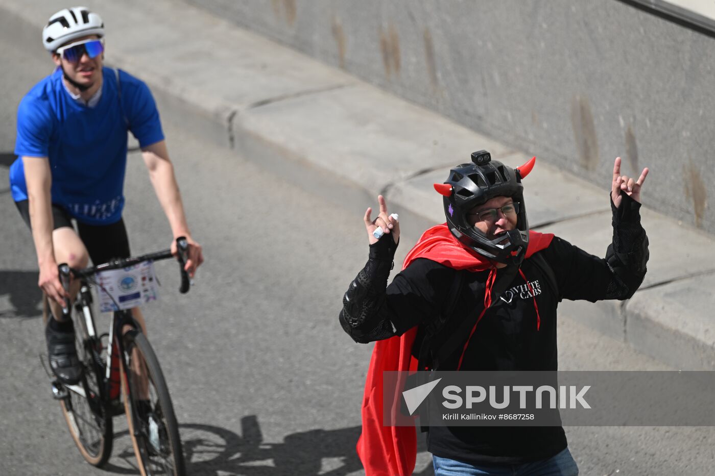
[[[136,372],[137,368],[140,372]],[[142,378],[141,372],[147,376],[146,380]],[[142,476],[184,476],[186,470],[179,425],[164,373],[147,337],[134,329],[124,334],[121,380],[129,435]],[[147,402],[139,395],[143,382],[148,384],[146,396],[149,408],[142,410],[146,415],[139,416],[140,400]],[[139,420],[137,428],[134,415]]]

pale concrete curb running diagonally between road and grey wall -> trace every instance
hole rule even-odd
[[[467,162],[473,149],[488,149],[512,166],[528,159],[192,6],[157,0],[137,14],[127,5],[134,3],[97,0],[92,7],[127,36],[109,43],[108,60],[149,84],[164,122],[234,149],[326,200],[340,200],[356,219],[382,193],[405,232],[416,237],[443,222],[431,184],[442,182],[450,165]],[[51,5],[0,0],[1,9],[37,31]],[[197,44],[179,41],[174,30],[182,29],[194,31]],[[142,49],[147,42],[151,51]],[[606,188],[595,187],[539,164],[525,199],[531,226],[602,256],[611,241],[609,182],[604,177]],[[266,189],[270,193],[270,184]],[[715,284],[715,239],[648,210],[643,220],[651,262],[641,290],[625,303],[563,302],[561,315],[674,367],[715,370],[715,297],[707,286],[697,299],[691,295],[700,282]]]

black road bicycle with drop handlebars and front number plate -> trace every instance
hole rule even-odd
[[[188,243],[184,237],[177,239],[177,251],[182,278],[179,292],[186,293],[190,282],[184,271],[188,258]],[[124,413],[142,476],[185,474],[179,427],[159,360],[132,311],[125,309],[132,299],[134,302],[149,299],[149,289],[156,279],[151,263],[172,257],[172,252],[166,249],[85,269],[59,265],[64,289],[69,289],[73,277],[81,282],[74,312],[69,299],[62,312],[65,318],[74,319],[83,375],[77,385],[64,385],[50,372],[48,375],[54,378],[52,393],[59,400],[69,432],[91,465],[101,467],[109,460],[114,437],[112,418]],[[112,283],[125,292],[119,299],[111,296],[114,286],[101,279],[107,276],[106,272],[118,269],[125,273],[122,278],[119,272],[119,281],[112,277]],[[98,290],[104,293],[101,298],[105,302],[110,299],[114,308],[109,332],[104,334],[98,334],[94,324],[93,285],[101,289]],[[45,321],[50,315],[48,304],[45,298]]]

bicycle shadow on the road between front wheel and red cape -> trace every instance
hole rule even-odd
[[[195,476],[345,476],[360,472],[363,466],[355,453],[360,427],[338,430],[308,430],[287,435],[281,443],[263,442],[255,415],[241,419],[242,435],[212,425],[185,423],[179,425],[187,475]],[[127,432],[114,435],[119,447],[112,458],[121,458],[132,465],[134,458]],[[122,439],[121,437],[126,437]],[[425,451],[424,437],[418,435],[418,451]],[[116,461],[116,460],[114,460]],[[112,464],[103,468],[109,472],[138,474]],[[432,476],[425,468],[418,476]]]

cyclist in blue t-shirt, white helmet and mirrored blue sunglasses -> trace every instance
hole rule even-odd
[[[187,237],[186,269],[191,276],[203,257],[189,232],[149,88],[124,71],[103,66],[102,19],[83,6],[62,9],[50,17],[42,40],[56,69],[20,102],[15,144],[19,158],[11,166],[10,185],[32,232],[39,287],[51,302],[54,319],[46,326],[50,367],[59,380],[73,384],[82,370],[73,325],[71,319],[61,320],[61,306],[64,298],[77,294],[79,282],[66,293],[57,264],[81,268],[89,259],[99,264],[129,257],[122,220],[128,131],[139,141],[174,238]],[[139,309],[133,312],[144,327]]]

